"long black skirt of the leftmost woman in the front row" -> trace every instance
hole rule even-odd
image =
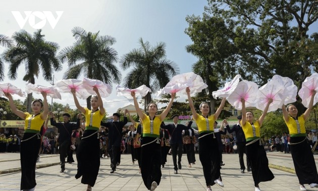
[[[33,136],[33,137],[32,137]],[[32,138],[31,138],[32,137]],[[30,139],[28,139],[30,138]],[[28,140],[26,140],[28,139]],[[41,147],[41,135],[37,133],[24,133],[21,141],[21,185],[20,189],[35,187],[35,166]]]

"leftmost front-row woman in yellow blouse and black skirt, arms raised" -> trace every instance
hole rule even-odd
[[[20,145],[21,190],[34,190],[36,185],[35,167],[41,147],[40,129],[48,113],[46,92],[41,92],[41,94],[43,95],[43,101],[36,99],[32,102],[31,108],[33,115],[31,115],[28,112],[24,113],[18,110],[13,102],[12,95],[5,93],[9,99],[12,112],[25,120],[24,135]],[[43,112],[41,113],[42,108]]]

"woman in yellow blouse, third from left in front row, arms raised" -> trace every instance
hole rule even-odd
[[[169,113],[176,93],[171,94],[171,100],[161,115],[156,115],[156,104],[150,103],[147,107],[149,116],[139,108],[135,92],[131,92],[138,116],[142,120],[143,133],[141,141],[141,176],[145,186],[154,190],[161,180],[161,145],[160,125]]]

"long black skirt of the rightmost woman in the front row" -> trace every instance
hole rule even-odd
[[[290,137],[290,143],[290,151],[299,183],[318,183],[317,168],[308,139],[305,136]]]

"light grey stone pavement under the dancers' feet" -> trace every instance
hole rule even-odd
[[[172,156],[168,156],[158,191],[164,190],[206,190],[199,156],[196,164],[188,167],[186,155],[182,157],[182,169],[174,174]],[[314,156],[316,164],[318,156]],[[0,153],[0,190],[20,190],[20,154]],[[275,178],[259,184],[261,190],[299,190],[298,179],[293,174],[293,162],[290,154],[268,153],[271,170]],[[74,155],[74,159],[76,157]],[[212,190],[254,190],[250,172],[240,173],[238,155],[223,154],[225,166],[221,169],[224,187],[212,186]],[[58,155],[41,155],[36,170],[36,190],[86,190],[80,179],[75,179],[77,163],[66,164],[64,173],[60,173]],[[280,169],[280,170],[279,170]],[[147,190],[138,173],[137,162],[132,164],[131,155],[121,157],[121,164],[114,174],[110,174],[110,159],[101,159],[99,174],[92,190]],[[306,185],[307,190],[318,190]]]

